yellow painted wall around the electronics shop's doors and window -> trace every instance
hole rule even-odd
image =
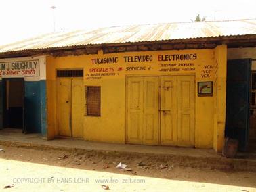
[[[83,68],[84,85],[101,86],[101,116],[85,116],[84,138],[89,141],[102,141],[109,143],[125,143],[125,76],[194,74],[196,79],[196,147],[213,148],[213,138],[215,138],[213,134],[216,133],[214,129],[215,118],[213,118],[215,116],[216,94],[214,94],[213,97],[198,97],[197,82],[213,81],[215,80],[215,75],[220,75],[221,78],[219,78],[219,83],[222,83],[224,80],[224,77],[222,76],[224,74],[223,72],[215,73],[215,66],[216,64],[219,66],[223,65],[223,61],[226,59],[226,52],[222,53],[221,51],[224,49],[226,49],[226,47],[200,50],[190,49],[182,51],[125,52],[111,54],[103,54],[102,51],[99,51],[98,55],[47,57],[48,139],[53,139],[58,135],[56,120],[57,69]],[[176,56],[175,61],[163,61],[165,55],[183,54],[191,54],[190,59],[177,60]],[[194,54],[196,54],[196,59],[192,59],[192,55]],[[148,55],[147,58],[152,58],[152,60],[146,62],[131,62],[131,57],[135,59],[135,56],[142,55]],[[161,55],[163,55],[163,57]],[[93,64],[95,59],[104,59],[108,57],[117,57],[116,63]],[[128,62],[128,59],[130,62]],[[175,64],[176,66],[174,66]],[[179,64],[186,64],[188,66],[178,66]],[[137,69],[140,70],[126,71],[127,67],[134,67],[133,69],[138,67]],[[99,68],[102,68],[102,70],[108,69],[108,72],[95,72],[95,69],[99,70]],[[161,71],[161,69],[169,71]],[[112,70],[113,72],[110,72]],[[99,74],[99,76],[95,74]],[[106,74],[108,74],[108,76],[106,76]],[[223,94],[219,96],[223,96]],[[219,100],[221,100],[221,98],[219,98]],[[220,103],[218,106],[219,105]],[[221,128],[219,128],[218,131],[221,131]],[[219,139],[221,138],[219,137]]]

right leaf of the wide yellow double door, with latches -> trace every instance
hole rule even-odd
[[[194,76],[161,77],[161,145],[194,146]]]

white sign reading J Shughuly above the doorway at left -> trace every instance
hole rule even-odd
[[[0,76],[39,76],[39,59],[18,62],[0,62]]]

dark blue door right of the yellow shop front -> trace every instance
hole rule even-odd
[[[227,65],[225,137],[238,140],[247,151],[250,128],[251,59],[229,60]]]

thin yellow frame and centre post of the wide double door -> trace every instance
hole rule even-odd
[[[146,74],[129,74],[125,75],[125,133],[124,133],[124,138],[125,138],[125,144],[127,143],[127,116],[128,116],[128,78],[129,77],[145,77],[145,76],[151,76],[151,77],[158,77],[158,85],[161,86],[161,77],[162,76],[193,76],[194,77],[194,146],[196,145],[196,73],[187,73],[187,74],[182,74],[182,73],[177,73],[177,74],[157,74],[157,75],[146,75]],[[161,145],[161,87],[158,88],[158,144]],[[164,145],[163,145],[164,146]],[[168,145],[168,146],[175,146],[175,145]]]

